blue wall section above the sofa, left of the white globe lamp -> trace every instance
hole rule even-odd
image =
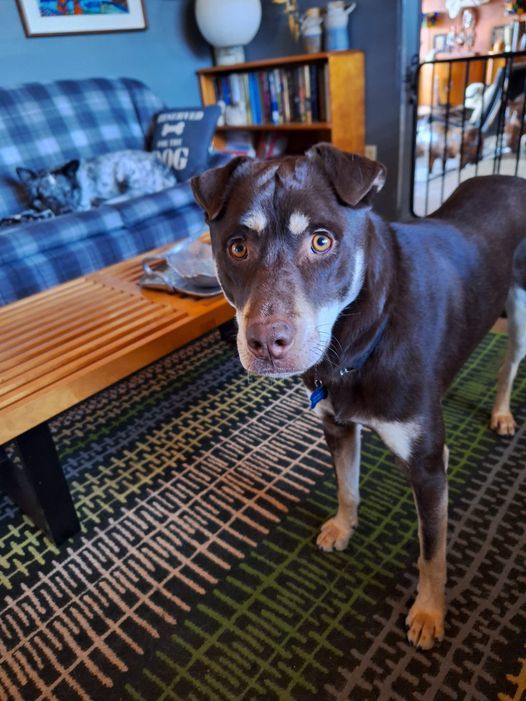
[[[192,0],[146,0],[149,28],[79,36],[27,38],[15,0],[0,0],[0,85],[94,76],[129,76],[174,107],[200,103],[195,71],[210,51]]]

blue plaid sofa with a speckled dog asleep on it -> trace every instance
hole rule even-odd
[[[17,166],[39,170],[72,158],[143,149],[152,117],[163,107],[148,87],[126,78],[0,88],[0,218],[28,206]],[[216,154],[209,165],[220,158]],[[0,305],[195,235],[202,227],[188,183],[86,212],[2,227]]]

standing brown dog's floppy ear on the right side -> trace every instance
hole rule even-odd
[[[316,144],[306,155],[321,162],[338,197],[352,207],[384,186],[387,169],[378,161],[325,143]]]

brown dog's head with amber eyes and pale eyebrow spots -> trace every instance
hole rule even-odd
[[[248,371],[294,375],[322,359],[362,288],[369,199],[384,181],[383,165],[329,144],[193,178]]]

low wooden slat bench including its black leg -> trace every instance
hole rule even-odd
[[[79,523],[48,420],[234,316],[139,288],[143,257],[0,308],[0,486],[57,543]]]

